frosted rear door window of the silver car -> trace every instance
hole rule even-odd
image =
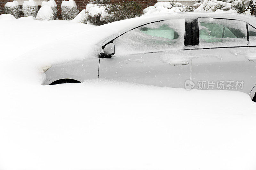
[[[199,46],[202,48],[247,45],[246,23],[238,20],[198,18]]]

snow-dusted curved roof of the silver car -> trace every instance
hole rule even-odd
[[[256,27],[256,17],[236,14],[236,13],[226,13],[226,12],[174,12],[167,14],[155,14],[155,15],[143,15],[137,18],[130,18],[121,21],[112,22],[102,26],[95,27],[95,31],[102,32],[102,39],[97,43],[98,45],[104,45],[105,43],[113,40],[117,36],[133,29],[138,26],[156,22],[166,19],[178,19],[178,18],[223,18],[223,19],[236,19],[242,20],[250,25]]]

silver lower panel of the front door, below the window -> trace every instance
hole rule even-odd
[[[185,50],[183,52],[191,54],[191,50]],[[100,59],[99,78],[163,87],[184,88],[184,84],[181,82],[187,79],[190,80],[190,62],[186,65],[176,67],[170,65],[170,61],[166,61],[161,57],[161,55],[172,57],[173,53],[177,54],[180,51],[173,50],[168,53],[162,52],[102,58]],[[179,61],[188,60],[180,58]]]

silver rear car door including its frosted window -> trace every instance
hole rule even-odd
[[[197,22],[193,32],[199,32],[199,39],[192,47],[191,65],[194,88],[249,93],[256,83],[252,60],[256,49],[250,46],[248,29],[253,34],[255,28],[233,19],[198,18]]]

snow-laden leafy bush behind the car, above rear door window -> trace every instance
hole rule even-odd
[[[196,12],[200,11],[216,11],[216,12],[231,12],[231,13],[244,13],[246,10],[244,1],[242,0],[196,0],[193,5]]]

